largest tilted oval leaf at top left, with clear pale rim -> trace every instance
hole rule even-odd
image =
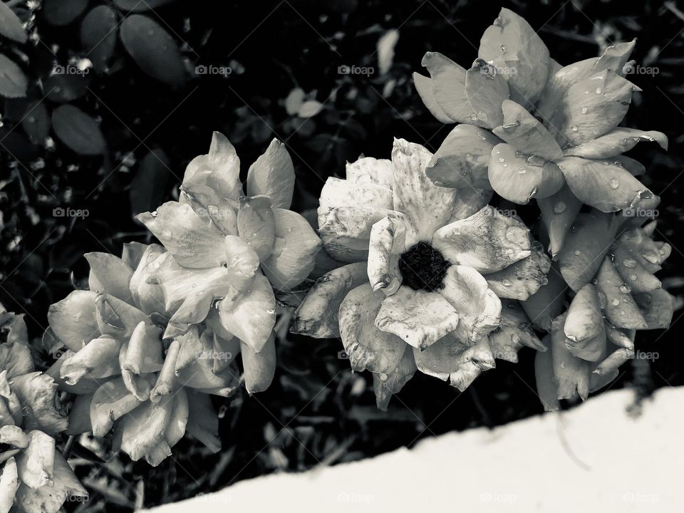
[[[185,66],[170,34],[147,16],[134,14],[121,24],[121,41],[140,69],[170,86],[185,82]]]

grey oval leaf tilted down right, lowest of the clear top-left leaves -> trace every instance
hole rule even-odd
[[[52,126],[61,141],[79,155],[100,155],[107,144],[100,125],[73,105],[61,105],[52,113]]]

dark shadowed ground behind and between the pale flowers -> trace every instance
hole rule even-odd
[[[66,26],[53,26],[38,12],[29,23],[36,41],[17,46],[2,39],[0,51],[14,56],[29,76],[33,98],[46,93],[53,64],[83,55],[78,27],[90,9],[105,3],[90,0]],[[26,313],[31,335],[41,336],[48,306],[73,289],[72,279],[86,275],[83,253],[120,254],[123,242],[149,240],[133,213],[177,196],[185,165],[207,152],[212,130],[234,143],[245,173],[271,138],[284,140],[298,178],[293,209],[300,212],[316,207],[323,180],[343,176],[346,160],[361,153],[389,157],[394,137],[436,150],[452,126],[427,113],[411,73],[422,71],[425,51],[440,51],[469,67],[482,32],[502,5],[541,28],[551,56],[563,65],[638,37],[632,57],[658,68],[653,76],[629,77],[643,93],[634,95],[623,124],[670,138],[668,152],[643,143],[629,155],[646,165],[646,185],[662,196],[656,238],[674,249],[660,279],[681,294],[684,14],[675,2],[177,0],[142,14],[180,46],[188,67],[185,83],[171,87],[150,78],[118,41],[110,71],[91,70],[88,89],[70,101],[100,122],[108,145],[104,157],[78,155],[54,134],[53,147],[33,145],[21,127],[13,128],[19,118],[12,111],[21,105],[6,100],[0,127],[0,139],[6,135],[0,145],[0,302]],[[381,76],[376,43],[393,28],[399,31],[395,57]],[[232,73],[192,73],[201,64],[230,66]],[[375,73],[343,75],[338,73],[343,65],[371,66]],[[311,118],[287,113],[285,98],[298,87],[323,104],[320,113]],[[48,99],[46,105],[49,111],[58,103]],[[158,166],[143,170],[145,156],[160,149],[172,173]],[[56,207],[88,209],[89,215],[54,217]],[[679,316],[675,311],[670,331],[638,333],[638,349],[656,351],[658,358],[623,366],[611,388],[631,386],[644,397],[655,388],[684,383]],[[529,349],[521,351],[517,364],[497,362],[496,370],[465,393],[416,373],[387,413],[375,409],[370,375],[351,374],[348,362],[338,358],[340,349],[339,341],[295,336],[281,343],[279,369],[268,391],[217,400],[224,445],[218,455],[186,439],[175,447],[174,459],[152,469],[125,455],[112,457],[106,443],[77,442],[72,456],[90,500],[67,509],[117,511],[171,502],[274,470],[356,460],[413,445],[421,437],[541,413]]]

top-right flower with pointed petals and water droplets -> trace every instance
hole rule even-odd
[[[601,212],[651,211],[658,197],[635,177],[643,165],[621,154],[639,141],[666,148],[668,140],[618,127],[639,90],[623,77],[634,44],[560,66],[527,21],[502,9],[469,70],[426,53],[430,78],[414,73],[420,97],[438,120],[462,123],[427,175],[437,185],[489,188],[518,204],[536,198],[545,224],[553,224],[554,256],[582,203]],[[564,222],[553,222],[561,212]]]

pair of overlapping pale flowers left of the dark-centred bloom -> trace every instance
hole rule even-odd
[[[292,162],[278,141],[249,170],[215,133],[188,165],[180,202],[139,219],[164,244],[86,254],[89,290],[51,306],[48,374],[76,394],[68,434],[113,430],[113,448],[158,465],[189,432],[220,449],[210,395],[266,390],[276,366],[276,291],[298,285],[321,243],[287,210]],[[262,194],[263,193],[263,194]]]

